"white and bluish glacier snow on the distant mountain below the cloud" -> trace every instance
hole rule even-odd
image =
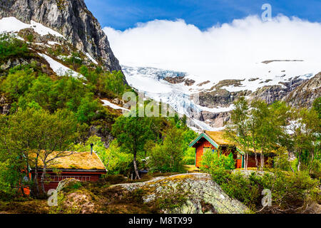
[[[208,108],[199,105],[197,94],[209,93],[216,89],[225,89],[229,92],[238,92],[242,90],[250,90],[255,92],[263,86],[279,85],[286,88],[282,83],[287,83],[293,78],[301,78],[303,80],[309,79],[313,76],[314,71],[303,71],[302,74],[295,74],[292,70],[287,71],[288,68],[300,68],[303,61],[272,61],[269,64],[258,63],[264,69],[257,74],[253,73],[248,76],[238,76],[230,79],[228,86],[220,86],[220,82],[227,80],[221,77],[220,81],[213,80],[213,78],[203,78],[189,73],[179,71],[169,71],[152,67],[138,67],[138,66],[122,66],[123,73],[126,76],[126,81],[138,92],[143,93],[153,100],[168,103],[176,112],[181,115],[187,115],[193,121],[195,126],[203,130],[219,130],[210,127],[207,123],[195,119],[195,113],[209,112],[209,113],[225,113],[233,110],[234,105],[228,107],[214,107]],[[301,64],[301,65],[300,65]],[[268,67],[267,67],[268,66]],[[309,68],[307,68],[309,69]],[[300,72],[301,72],[300,71]],[[253,71],[255,72],[255,71]],[[181,83],[169,83],[165,78],[184,77],[185,79],[192,79],[195,81],[193,85],[185,85],[184,81]],[[228,77],[230,78],[230,77]],[[233,81],[236,81],[234,83]],[[193,99],[192,99],[193,97]],[[196,98],[196,99],[195,99]]]

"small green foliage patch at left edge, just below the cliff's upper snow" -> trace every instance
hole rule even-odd
[[[26,56],[29,53],[26,43],[7,33],[0,34],[0,62],[6,58]]]

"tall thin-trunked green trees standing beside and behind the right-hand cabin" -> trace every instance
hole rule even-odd
[[[248,104],[245,98],[240,98],[235,102],[225,135],[245,154],[251,149],[265,155],[280,147],[288,152],[293,151],[297,157],[297,167],[292,170],[308,170],[310,174],[318,176],[321,129],[318,104],[319,101],[315,101],[314,108],[308,110],[290,108],[282,102],[267,105],[262,100],[255,100]],[[245,158],[245,169],[247,164]],[[263,162],[260,164],[263,170]]]

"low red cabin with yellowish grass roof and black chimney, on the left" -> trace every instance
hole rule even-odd
[[[49,155],[54,157],[57,152]],[[56,189],[61,180],[74,178],[82,182],[96,182],[101,175],[106,174],[107,170],[103,162],[95,152],[65,152],[65,157],[58,157],[50,162],[46,168],[45,190]],[[41,175],[44,164],[38,162],[38,182],[40,185]],[[35,170],[34,165],[31,166],[31,180],[34,180]]]

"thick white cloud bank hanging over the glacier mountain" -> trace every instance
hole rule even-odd
[[[121,64],[185,71],[202,78],[244,78],[282,70],[300,75],[321,71],[321,24],[258,16],[200,31],[177,21],[150,21],[126,31],[104,28]],[[269,63],[266,60],[304,60]]]

